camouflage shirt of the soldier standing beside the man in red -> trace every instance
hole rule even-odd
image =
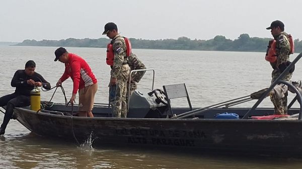
[[[119,34],[112,39],[112,48],[114,50],[114,60],[111,70],[111,77],[117,78],[122,65],[127,64],[126,43],[124,37]]]

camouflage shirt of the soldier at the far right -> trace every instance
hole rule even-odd
[[[275,35],[274,39],[276,40],[277,62],[282,64],[289,61],[290,44],[288,35],[285,32],[281,32],[280,34]]]

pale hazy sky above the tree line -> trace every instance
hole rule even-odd
[[[274,20],[302,39],[301,7],[292,0],[1,0],[0,42],[106,38],[108,22],[136,39],[270,38],[265,28]]]

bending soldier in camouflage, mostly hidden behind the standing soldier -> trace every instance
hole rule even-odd
[[[140,69],[146,69],[145,65],[141,62],[138,57],[131,53],[131,55],[128,57],[128,64],[130,66],[130,70],[140,70]],[[130,93],[129,93],[129,82],[127,83],[127,95],[126,95],[126,100],[127,100],[127,105],[129,101],[129,97],[131,96],[132,92],[137,89],[137,83],[140,81],[142,76],[144,75],[145,71],[138,71],[138,72],[133,72],[131,74],[130,78]]]

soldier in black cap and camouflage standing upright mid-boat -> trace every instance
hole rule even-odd
[[[114,61],[110,72],[110,104],[115,117],[127,117],[126,87],[130,74],[130,67],[126,57],[126,43],[120,36],[114,23],[107,23],[103,35],[112,39]],[[112,92],[115,90],[115,92]],[[112,96],[114,93],[114,96]]]

